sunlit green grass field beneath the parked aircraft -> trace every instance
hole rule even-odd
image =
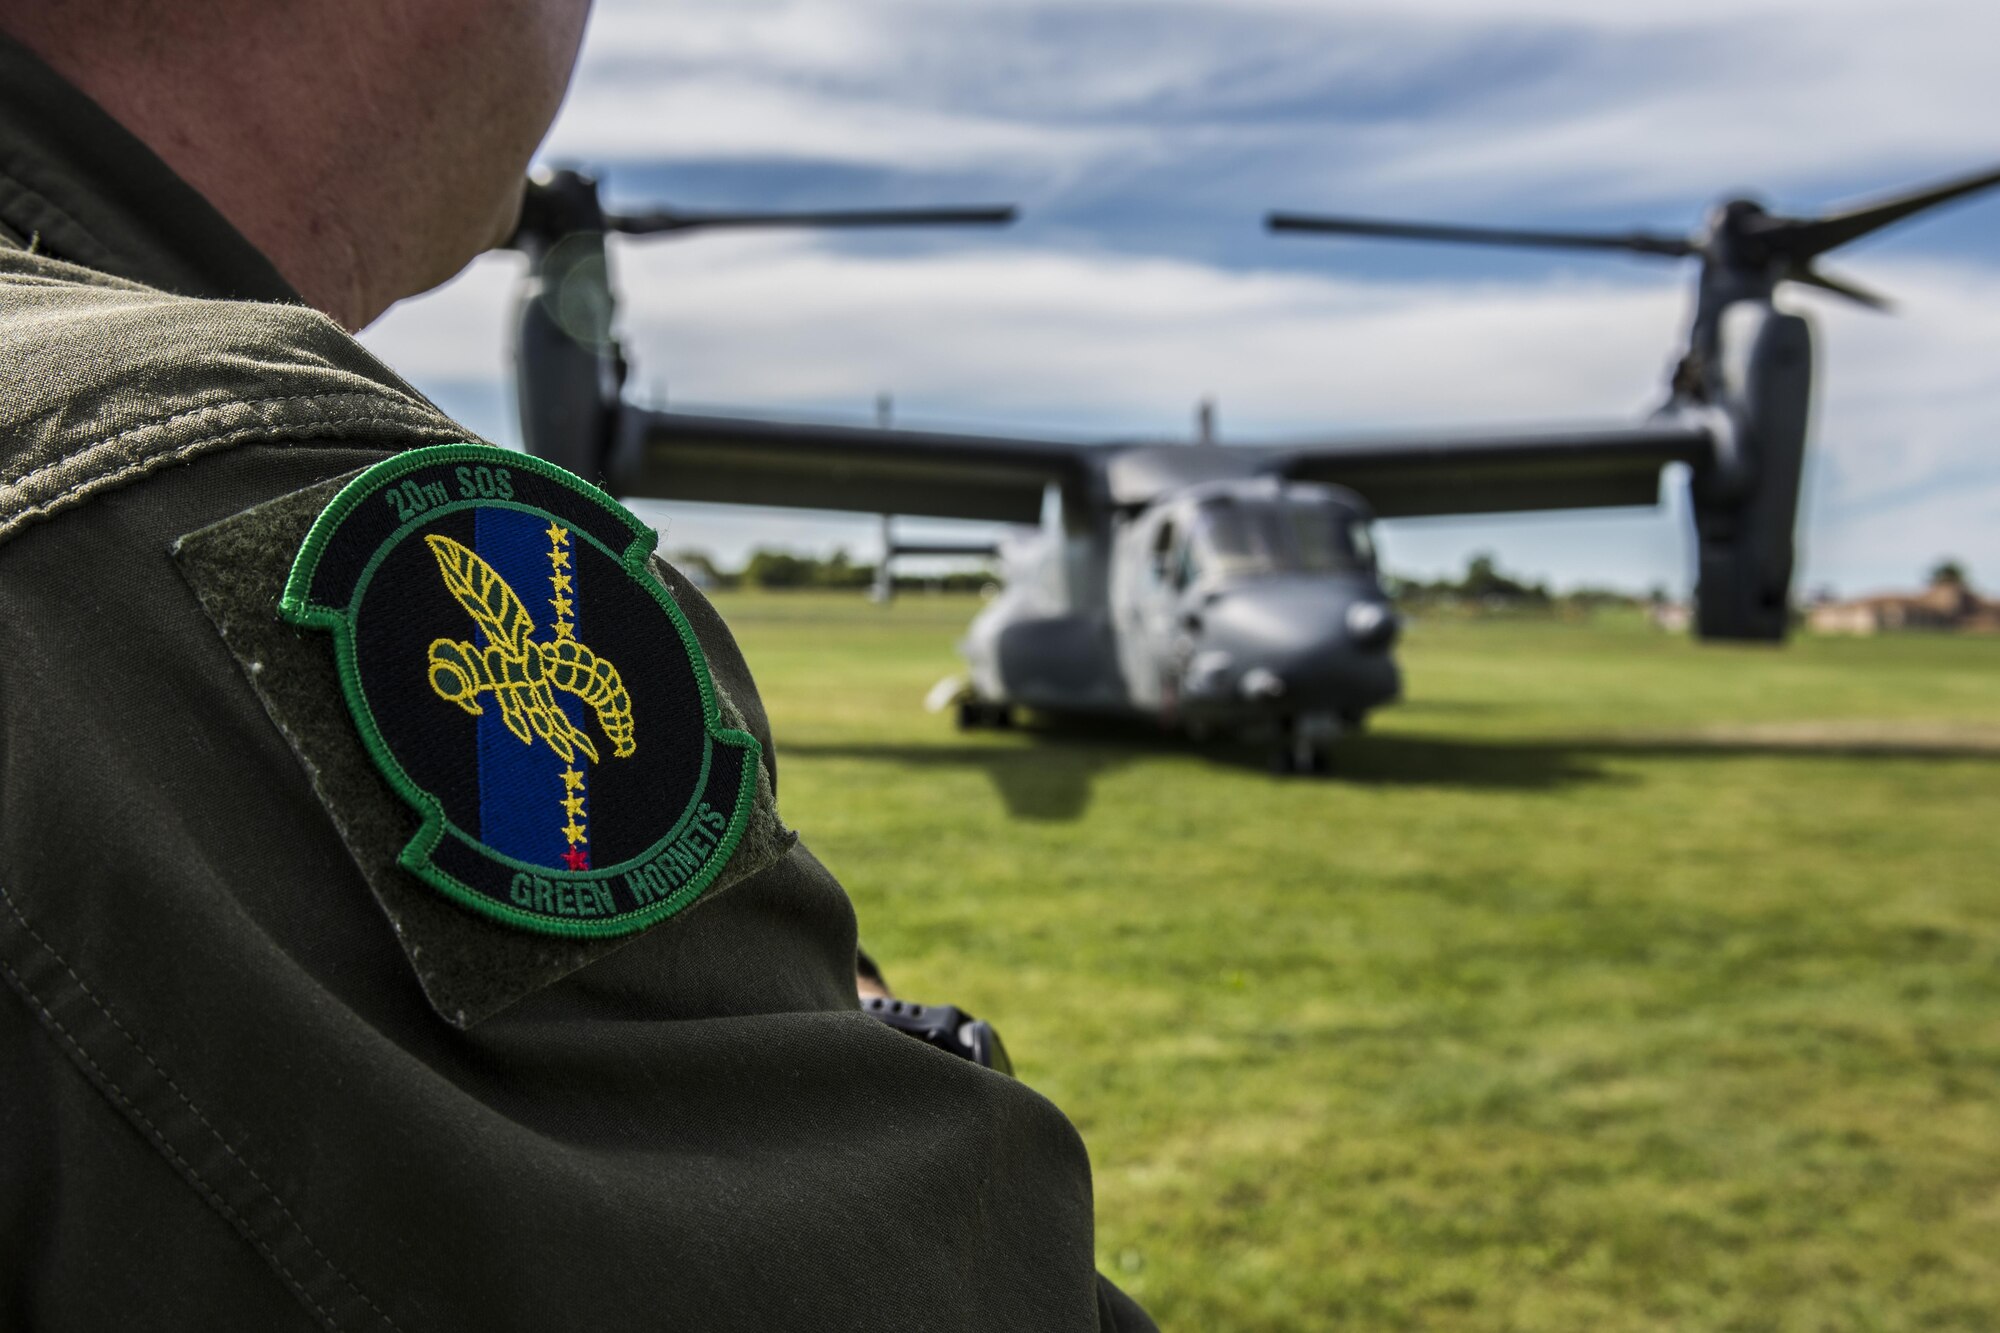
[[[918,707],[724,596],[782,809],[994,1019],[1170,1329],[2000,1329],[2000,640],[1418,626],[1324,781]]]

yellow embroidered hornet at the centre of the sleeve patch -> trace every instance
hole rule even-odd
[[[616,666],[574,638],[536,642],[530,638],[534,620],[528,608],[492,564],[450,536],[432,534],[424,542],[438,558],[444,586],[472,622],[486,630],[486,648],[460,638],[430,642],[430,689],[440,699],[480,715],[484,709],[478,697],[492,691],[500,721],[522,745],[534,745],[542,737],[564,763],[572,763],[578,751],[596,761],[598,747],[556,703],[554,691],[564,691],[598,715],[598,727],[610,737],[618,759],[638,749],[632,741],[632,695]]]

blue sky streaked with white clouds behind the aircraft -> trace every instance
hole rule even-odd
[[[1270,208],[1684,232],[1732,194],[1810,214],[2000,162],[1978,0],[600,0],[540,160],[614,206],[1016,202],[1006,230],[618,242],[648,402],[1224,442],[1602,422],[1650,410],[1692,268],[1268,236]],[[1826,262],[1800,590],[2000,590],[2000,192]],[[492,254],[364,334],[514,444]],[[1690,580],[1658,510],[1384,524],[1558,586]],[[848,546],[876,520],[646,504],[668,548]],[[906,522],[918,534],[954,524]]]

